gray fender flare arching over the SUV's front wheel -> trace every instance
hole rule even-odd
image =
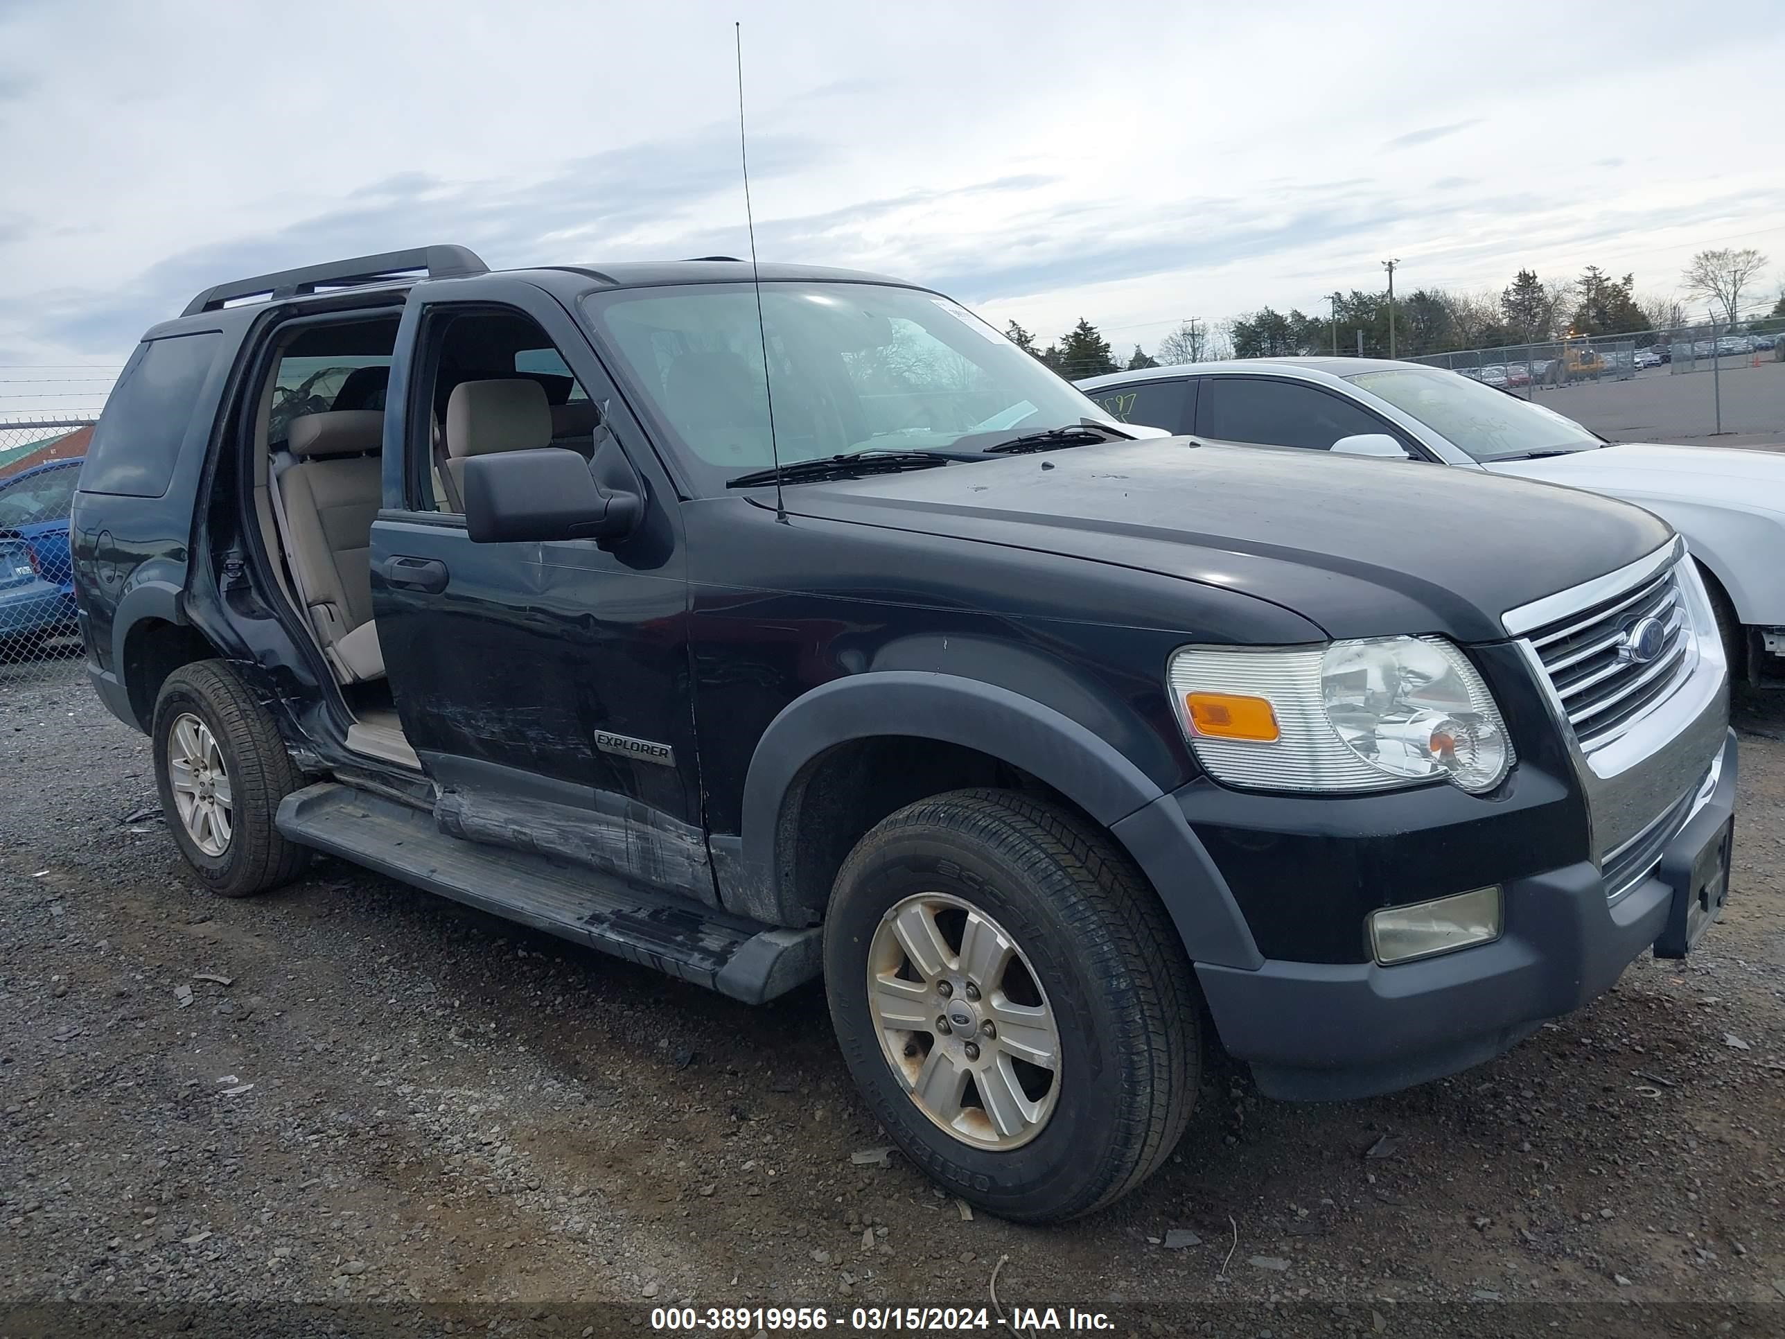
[[[1194,962],[1258,968],[1246,919],[1176,800],[1078,721],[1007,687],[959,675],[871,671],[787,703],[744,778],[748,886],[778,902],[782,803],[800,771],[851,739],[909,736],[975,748],[1041,778],[1108,828],[1153,882]]]

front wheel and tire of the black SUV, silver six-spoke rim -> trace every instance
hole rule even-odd
[[[937,973],[905,952],[925,927],[941,934],[923,950]],[[967,971],[967,959],[1001,961],[1001,977]],[[969,991],[980,977],[987,989]],[[825,921],[825,982],[843,1055],[889,1135],[946,1189],[1007,1219],[1076,1218],[1126,1194],[1171,1153],[1196,1103],[1201,1000],[1176,928],[1107,834],[1028,796],[953,791],[862,837]],[[925,1021],[928,1009],[937,1016]],[[944,1034],[957,1012],[964,1027]],[[1051,1069],[1017,1055],[1046,1053],[1044,1019]],[[964,1093],[950,1084],[962,1069]],[[919,1103],[916,1091],[941,1100]]]

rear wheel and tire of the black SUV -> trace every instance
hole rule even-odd
[[[309,852],[286,841],[273,825],[278,802],[303,786],[303,775],[273,719],[228,666],[198,661],[168,675],[155,698],[154,741],[161,812],[205,887],[245,898],[303,869]],[[207,761],[193,766],[198,757]],[[177,787],[177,771],[184,789]],[[195,789],[202,791],[196,811]]]

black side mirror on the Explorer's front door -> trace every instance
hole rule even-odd
[[[464,523],[473,545],[625,539],[643,516],[644,498],[600,487],[589,462],[562,446],[464,462]]]

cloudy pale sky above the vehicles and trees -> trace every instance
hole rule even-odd
[[[734,18],[762,259],[1044,337],[1151,348],[1391,255],[1403,291],[1599,264],[1671,293],[1714,245],[1785,275],[1780,0],[1094,12],[0,0],[0,416],[96,402],[57,378],[223,279],[748,254]]]

